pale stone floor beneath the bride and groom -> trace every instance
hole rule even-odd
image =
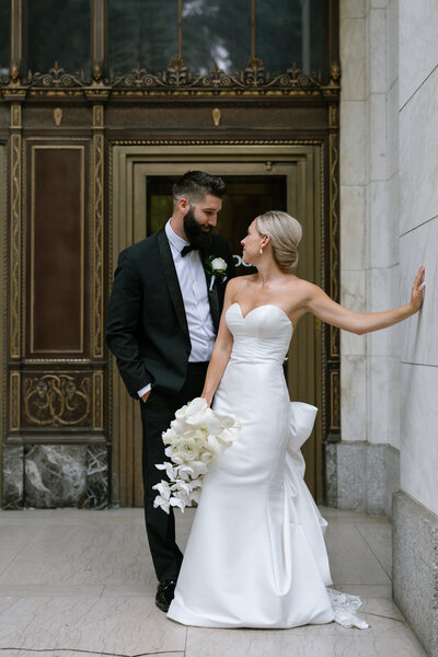
[[[322,508],[335,586],[369,630],[184,627],[154,606],[140,509],[0,511],[0,657],[419,657],[391,600],[391,526]],[[178,514],[184,545],[193,518]]]

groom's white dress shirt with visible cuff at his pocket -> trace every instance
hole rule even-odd
[[[208,302],[207,281],[199,251],[191,251],[182,257],[181,252],[189,244],[177,235],[171,227],[169,219],[165,224],[165,234],[169,240],[176,276],[183,295],[184,309],[187,318],[188,334],[191,336],[192,350],[188,356],[189,362],[205,362],[210,359],[215,345],[216,334]],[[145,385],[138,391],[141,397],[149,392],[151,385]]]

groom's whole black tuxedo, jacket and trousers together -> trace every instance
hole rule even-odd
[[[210,249],[201,258],[209,256],[222,257],[228,278],[235,276],[233,256],[224,238],[212,235]],[[220,280],[210,284],[211,277],[206,273],[211,320],[217,331],[226,285]],[[153,508],[158,492],[152,486],[161,479],[166,480],[155,463],[170,460],[164,456],[161,434],[169,428],[177,408],[200,395],[207,366],[187,362],[191,336],[165,229],[120,253],[105,335],[129,394],[138,400],[137,391],[152,385],[146,404],[139,401],[146,528],[158,579],[173,579],[180,570],[182,554],[175,544],[172,510],[168,516],[161,508]]]

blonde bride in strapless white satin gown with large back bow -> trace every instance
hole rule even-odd
[[[243,261],[257,273],[227,287],[201,396],[235,416],[241,434],[204,476],[168,612],[185,625],[367,626],[355,614],[360,600],[328,588],[326,522],[304,484],[300,452],[316,408],[290,403],[283,361],[307,312],[357,334],[411,316],[423,302],[424,267],[406,306],[359,314],[290,274],[300,239],[299,222],[286,212],[257,217],[241,242]]]

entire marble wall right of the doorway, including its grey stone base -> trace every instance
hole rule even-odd
[[[343,337],[343,441],[327,452],[328,492],[343,508],[388,512],[388,494],[395,493],[393,595],[434,657],[437,36],[433,0],[341,0],[342,300],[369,311],[406,302],[420,264],[426,296],[422,312],[399,326]]]

